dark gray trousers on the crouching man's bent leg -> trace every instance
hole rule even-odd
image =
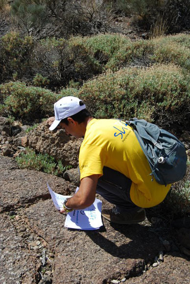
[[[130,198],[131,183],[131,180],[119,171],[104,166],[103,176],[98,180],[96,193],[115,204],[118,212],[133,213],[140,207],[136,206]]]

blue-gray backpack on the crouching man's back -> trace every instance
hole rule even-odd
[[[177,182],[186,174],[187,154],[185,147],[174,135],[144,119],[132,118],[126,123],[135,135],[148,159],[152,172],[161,185]]]

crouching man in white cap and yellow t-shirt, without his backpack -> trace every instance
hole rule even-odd
[[[54,104],[55,120],[49,130],[65,129],[84,137],[79,153],[80,187],[61,213],[84,209],[95,193],[114,204],[102,216],[119,224],[139,223],[144,208],[161,203],[170,188],[151,181],[150,166],[132,128],[118,119],[93,118],[82,100],[66,96]]]

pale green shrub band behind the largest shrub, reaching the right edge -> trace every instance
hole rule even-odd
[[[178,40],[175,42],[175,39]],[[102,71],[117,71],[126,66],[148,66],[155,63],[174,63],[189,70],[189,35],[132,42],[125,36],[106,34],[78,37],[77,41],[99,62]]]

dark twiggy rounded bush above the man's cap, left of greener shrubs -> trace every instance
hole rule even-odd
[[[101,72],[100,64],[77,38],[39,41],[32,58],[32,70],[47,77],[51,86],[81,82]]]

